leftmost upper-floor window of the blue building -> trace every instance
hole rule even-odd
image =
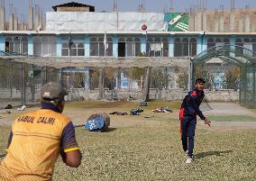
[[[6,37],[5,51],[15,52],[19,54],[28,54],[28,38],[27,37]]]

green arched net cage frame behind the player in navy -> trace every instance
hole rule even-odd
[[[256,108],[256,52],[237,45],[215,46],[191,59],[191,82],[195,82],[198,66],[213,58],[240,68],[240,104]]]

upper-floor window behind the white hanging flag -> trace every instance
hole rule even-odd
[[[111,38],[107,38],[106,48],[107,56],[113,56],[113,41]],[[103,37],[90,39],[90,56],[105,56],[105,45]]]

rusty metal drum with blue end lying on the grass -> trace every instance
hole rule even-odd
[[[89,131],[106,131],[110,125],[110,117],[107,113],[95,113],[92,114],[86,123],[86,127]]]

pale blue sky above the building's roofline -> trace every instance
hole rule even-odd
[[[3,0],[1,0],[3,1]],[[16,14],[28,15],[29,0],[4,0],[6,13],[8,14],[9,5],[13,4],[16,9]],[[114,0],[32,0],[33,5],[38,4],[44,12],[53,11],[51,6],[61,5],[75,1],[77,3],[94,5],[96,12],[106,11],[111,12],[113,9]],[[185,12],[190,5],[198,5],[203,0],[173,0],[174,11]],[[230,8],[231,0],[206,0],[208,9],[219,8],[224,5],[225,9]],[[170,0],[117,0],[119,11],[137,11],[139,4],[144,2],[146,12],[163,12],[164,7],[170,6]],[[246,5],[256,8],[256,0],[235,0],[236,8],[244,8]]]

